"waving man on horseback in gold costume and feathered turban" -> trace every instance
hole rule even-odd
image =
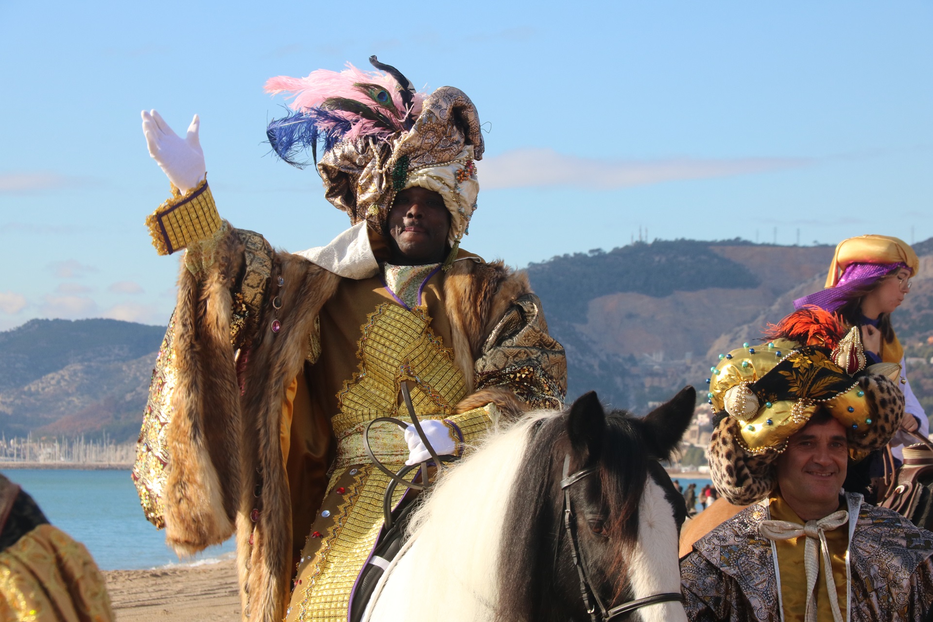
[[[143,113],[174,191],[150,231],[160,253],[186,254],[133,475],[179,553],[236,532],[244,619],[348,618],[389,481],[363,434],[408,418],[403,383],[439,454],[564,398],[564,350],[525,275],[460,248],[479,191],[475,106],[370,62],[382,71],[266,85],[294,97],[272,148],[301,164],[323,143],[327,200],[353,224],[298,254],[216,213],[198,117],[181,138]],[[377,425],[369,441],[393,470],[426,459],[411,430]]]

